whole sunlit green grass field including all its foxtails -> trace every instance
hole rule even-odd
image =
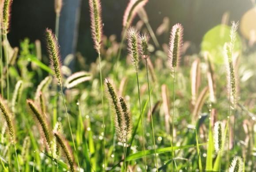
[[[8,44],[12,0],[0,0],[1,172],[256,171],[255,46],[239,22],[210,29],[199,54],[179,23],[159,45],[147,1],[127,5],[119,43],[89,0],[98,58],[85,64],[60,57],[61,0],[47,54],[39,41]],[[138,13],[142,29],[132,27]]]

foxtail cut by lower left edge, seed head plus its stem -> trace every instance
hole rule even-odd
[[[13,144],[14,149],[15,149],[16,162],[17,162],[18,171],[19,171],[19,161],[18,161],[18,155],[17,155],[16,143],[15,143],[13,120],[12,120],[10,111],[8,110],[7,106],[5,106],[4,99],[2,98],[2,95],[0,95],[0,110],[2,111],[4,120],[7,124],[9,135],[11,136],[11,143]]]

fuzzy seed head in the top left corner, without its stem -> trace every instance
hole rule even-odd
[[[2,18],[2,24],[3,24],[3,29],[9,32],[10,29],[10,21],[11,21],[11,4],[12,0],[4,0],[4,5],[3,5],[3,18]]]

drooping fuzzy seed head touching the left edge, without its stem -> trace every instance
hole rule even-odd
[[[4,120],[8,126],[8,131],[11,136],[11,141],[14,143],[15,141],[15,134],[14,134],[14,127],[13,127],[13,121],[11,119],[11,113],[8,110],[8,108],[5,106],[4,99],[0,95],[0,110],[2,111],[2,114],[4,116]]]

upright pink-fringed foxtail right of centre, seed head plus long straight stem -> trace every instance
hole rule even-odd
[[[173,131],[174,131],[174,117],[175,117],[175,92],[176,92],[176,67],[180,60],[181,46],[183,44],[183,26],[180,23],[172,26],[171,36],[169,41],[169,62],[170,68],[173,71],[173,113],[172,113],[172,171],[173,171]]]

